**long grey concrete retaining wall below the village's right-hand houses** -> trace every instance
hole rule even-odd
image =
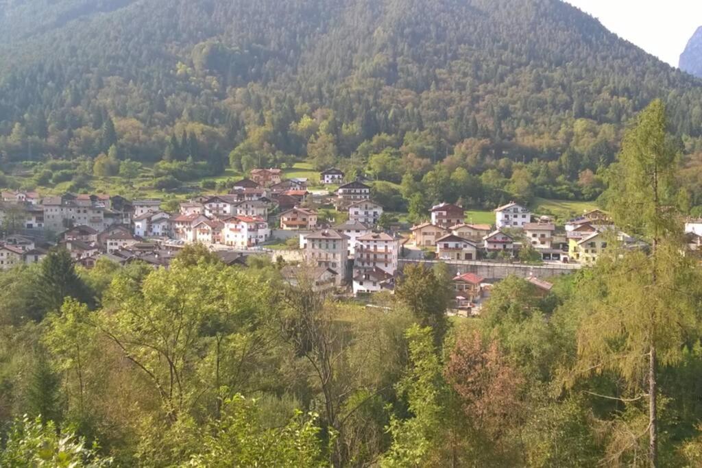
[[[405,265],[423,263],[430,267],[439,263],[438,260],[408,260],[401,258],[399,267],[402,269]],[[529,278],[536,276],[537,278],[548,278],[559,274],[569,274],[577,272],[581,269],[581,265],[577,264],[544,264],[544,265],[524,265],[520,263],[494,263],[494,262],[442,262],[449,267],[451,274],[474,273],[482,276],[485,279],[505,279],[507,276],[514,275],[519,278]]]

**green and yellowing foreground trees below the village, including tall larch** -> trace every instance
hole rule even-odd
[[[702,277],[664,112],[604,197],[649,248],[615,236],[549,293],[508,277],[476,318],[446,315],[441,263],[374,307],[198,244],[168,269],[53,250],[2,272],[0,466],[700,466]]]

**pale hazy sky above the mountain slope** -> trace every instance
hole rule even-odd
[[[702,0],[566,1],[674,67],[687,41],[702,26]]]

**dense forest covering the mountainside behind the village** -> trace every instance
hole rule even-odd
[[[91,189],[129,160],[176,189],[307,159],[407,175],[380,187],[398,210],[591,200],[663,98],[702,205],[702,83],[559,0],[13,1],[0,62],[1,169],[34,175],[4,185]]]

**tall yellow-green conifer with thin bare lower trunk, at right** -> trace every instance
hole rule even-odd
[[[615,225],[651,248],[614,249],[579,285],[576,370],[617,373],[631,394],[616,399],[647,401],[651,467],[658,466],[659,367],[680,359],[699,300],[698,273],[681,253],[677,151],[666,127],[665,107],[656,100],[626,134],[607,194]]]

